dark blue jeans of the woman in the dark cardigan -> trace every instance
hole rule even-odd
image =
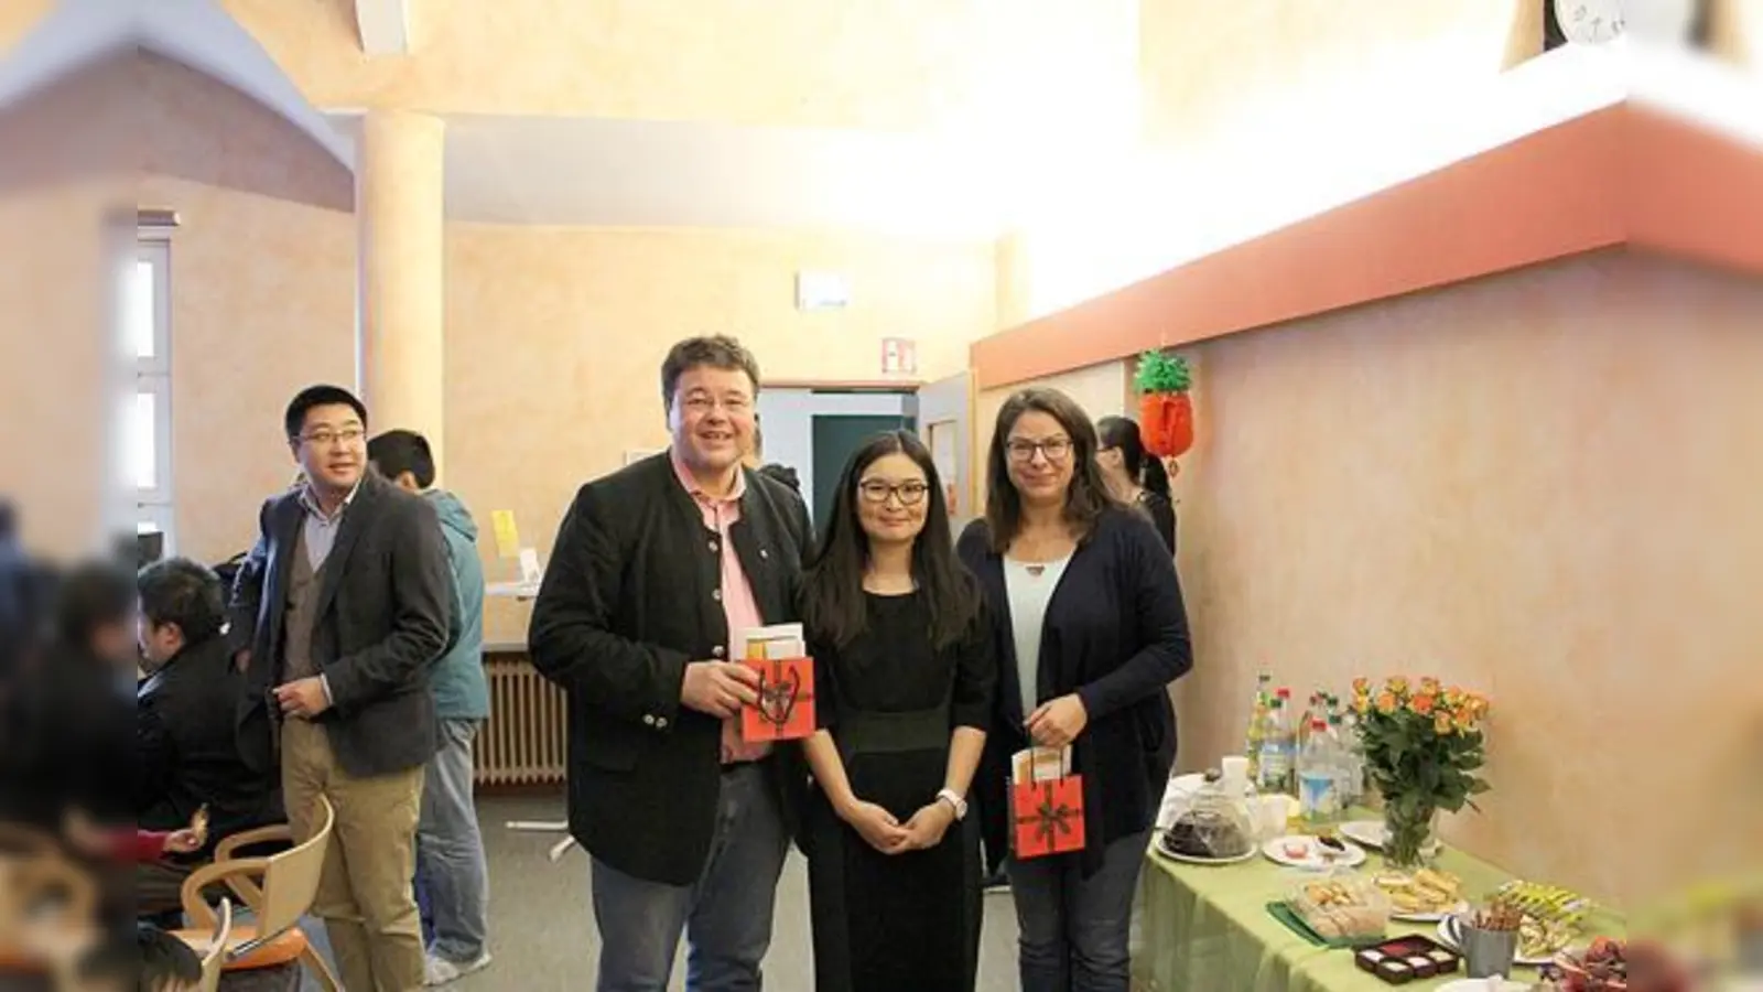
[[[1023,992],[1127,992],[1132,897],[1148,840],[1134,833],[1109,844],[1088,879],[1077,856],[1010,860]]]

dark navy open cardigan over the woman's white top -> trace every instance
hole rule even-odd
[[[1028,747],[1010,627],[1003,558],[986,521],[973,521],[957,552],[980,579],[998,651],[1001,754]],[[1084,874],[1107,844],[1157,821],[1176,759],[1176,713],[1169,683],[1194,667],[1188,614],[1174,561],[1144,517],[1111,507],[1077,545],[1047,602],[1035,699],[1077,694],[1090,724],[1072,745],[1072,770],[1084,777]],[[989,741],[987,741],[989,743]]]

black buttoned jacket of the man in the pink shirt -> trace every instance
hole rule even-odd
[[[746,471],[730,535],[765,623],[793,621],[802,500]],[[569,699],[569,831],[638,879],[691,884],[710,853],[721,722],[679,694],[688,662],[725,653],[719,597],[716,531],[661,454],[577,492],[532,607],[532,664]],[[776,748],[769,766],[793,817],[806,782],[797,748]]]

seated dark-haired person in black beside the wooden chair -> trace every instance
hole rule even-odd
[[[238,754],[233,717],[243,674],[220,627],[220,579],[187,558],[141,570],[139,641],[146,680],[136,688],[134,814],[141,830],[176,831],[208,807],[208,835],[194,851],[139,868],[139,913],[178,907],[183,879],[222,837],[280,823],[280,793],[270,775]]]

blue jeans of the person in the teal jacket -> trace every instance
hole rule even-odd
[[[478,960],[488,936],[490,877],[471,796],[471,741],[476,736],[478,720],[441,720],[441,750],[428,759],[416,821],[423,936],[435,957],[453,964]]]

